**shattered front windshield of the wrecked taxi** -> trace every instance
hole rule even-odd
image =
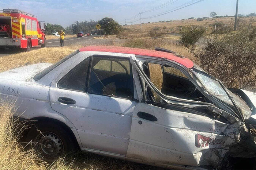
[[[215,78],[212,78],[207,73],[197,69],[192,69],[192,72],[195,74],[197,79],[203,85],[203,88],[210,94],[210,96],[214,96],[219,100],[223,101],[224,103],[230,105],[232,108],[234,108],[234,105],[230,100],[229,96],[227,96],[227,93],[219,84],[219,82],[215,80]],[[236,94],[230,92],[230,90],[228,89],[226,90],[229,92],[230,96],[233,97],[234,102],[242,112],[242,115],[244,116],[244,118],[248,119],[251,116],[252,112],[251,112],[251,109],[248,107],[248,105],[246,105],[245,101],[239,98]]]

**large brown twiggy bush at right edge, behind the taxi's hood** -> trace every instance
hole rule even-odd
[[[250,23],[235,33],[212,35],[196,54],[199,65],[228,88],[256,92],[256,28]]]

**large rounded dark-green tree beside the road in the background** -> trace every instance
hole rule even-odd
[[[123,28],[115,20],[113,20],[113,18],[103,18],[99,21],[99,24],[106,35],[119,34],[123,30]]]

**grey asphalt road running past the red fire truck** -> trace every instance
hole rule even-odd
[[[85,36],[84,38],[77,38],[77,37],[65,38],[64,46],[69,46],[77,43],[84,44],[87,40],[93,39],[93,37],[94,35]],[[46,47],[60,47],[60,39],[46,39]],[[31,47],[31,50],[36,50],[39,48],[41,48],[41,46]],[[22,51],[21,49],[5,49],[4,51],[0,52],[0,57],[3,57],[5,55],[20,53],[21,51]]]

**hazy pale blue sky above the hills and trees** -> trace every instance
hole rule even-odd
[[[104,17],[110,17],[120,24],[140,19],[133,16],[155,8],[168,0],[0,0],[0,9],[20,9],[36,15],[38,20],[51,24],[60,24],[64,28],[76,21],[98,21]],[[163,13],[170,9],[186,4],[191,0],[172,0],[172,4],[161,9],[144,12],[142,18]],[[178,20],[190,17],[210,17],[210,12],[217,15],[235,15],[236,0],[203,0],[189,7],[167,13],[151,19],[142,19],[143,23],[157,22],[159,20]],[[256,0],[239,0],[238,14],[256,12]],[[140,20],[132,24],[139,24]]]

